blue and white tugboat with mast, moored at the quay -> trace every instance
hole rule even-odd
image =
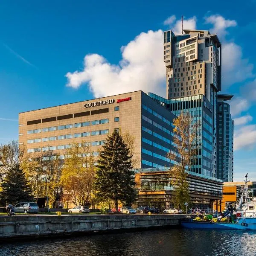
[[[250,200],[248,174],[245,175],[245,178],[239,202],[228,206],[221,216],[218,216],[218,213],[198,215],[195,218],[188,215],[185,220],[181,221],[181,226],[199,229],[256,230],[256,197]]]

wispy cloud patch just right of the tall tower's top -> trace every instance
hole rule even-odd
[[[217,33],[222,44],[222,87],[226,89],[232,84],[252,78],[253,64],[243,58],[243,52],[239,45],[228,42],[227,29],[237,25],[236,20],[227,20],[221,15],[205,17],[205,23],[212,24],[211,33]],[[238,68],[239,67],[239,68]]]

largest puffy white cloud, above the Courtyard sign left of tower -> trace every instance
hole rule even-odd
[[[101,55],[88,54],[84,57],[84,70],[66,74],[67,86],[78,88],[88,83],[95,97],[135,90],[165,96],[162,41],[162,30],[141,33],[121,47],[119,65],[109,63]]]

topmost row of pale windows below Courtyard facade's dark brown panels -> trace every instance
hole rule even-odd
[[[75,124],[69,124],[69,125],[59,125],[59,126],[42,128],[42,129],[29,130],[29,131],[27,131],[27,134],[64,130],[64,129],[70,129],[70,128],[78,128],[78,127],[84,127],[84,126],[89,126],[89,125],[101,125],[101,124],[106,124],[108,122],[109,122],[109,119],[107,118],[107,119],[100,119],[100,120],[81,122],[81,123],[75,123]]]

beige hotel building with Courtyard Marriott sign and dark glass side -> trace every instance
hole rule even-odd
[[[162,168],[172,163],[175,115],[142,91],[19,113],[19,143],[31,154],[53,151],[64,159],[73,142],[99,148],[113,129],[134,136],[134,168]],[[96,158],[95,158],[96,159]],[[95,160],[95,163],[97,160]]]

